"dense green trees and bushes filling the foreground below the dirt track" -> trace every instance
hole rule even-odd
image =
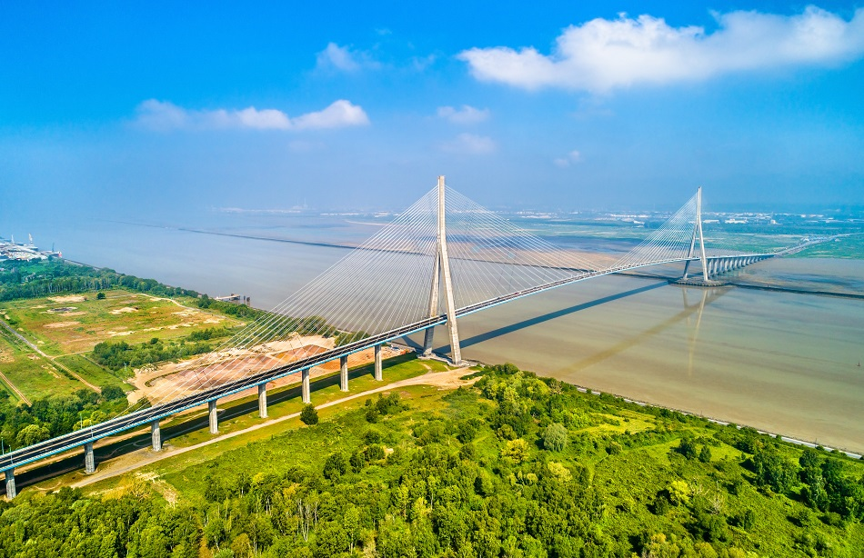
[[[860,556],[864,466],[512,365],[119,493],[0,504],[0,556]],[[315,424],[316,423],[316,424]]]

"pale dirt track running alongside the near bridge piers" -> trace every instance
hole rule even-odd
[[[421,376],[417,376],[414,378],[408,378],[407,380],[400,380],[398,382],[394,382],[393,384],[382,385],[381,387],[377,387],[373,390],[368,390],[366,392],[362,392],[360,394],[348,395],[347,397],[343,397],[342,399],[337,399],[336,401],[331,401],[325,404],[320,404],[316,408],[317,409],[325,409],[327,407],[331,407],[337,404],[343,404],[348,401],[352,401],[354,399],[360,397],[367,397],[371,394],[377,394],[379,392],[386,392],[390,390],[394,390],[400,387],[406,387],[408,385],[432,385],[436,386],[439,389],[456,389],[457,387],[463,385],[470,385],[477,381],[477,379],[473,380],[462,380],[461,377],[468,373],[470,368],[457,368],[455,370],[449,370],[447,372],[429,372],[427,374],[423,374]],[[267,426],[271,426],[276,423],[281,423],[283,421],[287,421],[293,418],[300,416],[299,413],[286,414],[285,416],[280,416],[275,419],[269,419],[262,423],[258,423],[254,426],[250,426],[243,430],[238,430],[236,432],[225,433],[222,434],[212,440],[207,440],[206,442],[196,443],[195,445],[190,445],[182,448],[163,448],[161,452],[153,452],[149,448],[149,440],[146,441],[146,447],[140,450],[136,450],[132,453],[127,453],[123,457],[119,457],[116,460],[109,460],[104,463],[100,463],[99,469],[96,470],[95,473],[87,476],[85,479],[78,481],[77,483],[72,483],[70,486],[74,488],[79,488],[81,486],[86,486],[88,484],[98,483],[99,481],[104,481],[105,479],[109,479],[121,474],[129,473],[131,471],[135,471],[145,465],[150,463],[156,463],[157,461],[162,461],[163,459],[167,459],[168,457],[174,457],[175,455],[179,455],[181,453],[191,452],[193,450],[202,448],[206,445],[210,445],[211,443],[218,443],[223,440],[227,440],[229,438],[234,438],[236,436],[243,435],[245,433],[250,433],[256,431],[260,428],[266,428]],[[114,463],[112,463],[114,462]]]

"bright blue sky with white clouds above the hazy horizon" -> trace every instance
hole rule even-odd
[[[5,2],[0,219],[864,204],[864,9],[818,6]]]

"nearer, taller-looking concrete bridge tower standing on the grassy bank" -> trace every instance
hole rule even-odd
[[[450,357],[453,364],[462,364],[462,349],[459,347],[459,330],[456,324],[456,302],[453,300],[453,284],[450,279],[450,259],[447,255],[447,226],[446,210],[444,203],[445,184],[444,176],[438,176],[438,227],[437,227],[437,254],[435,264],[432,268],[432,286],[429,290],[429,317],[437,316],[438,295],[444,292],[444,311],[447,314],[447,334],[450,337]],[[423,354],[428,356],[432,353],[432,337],[435,327],[426,330],[423,342]]]

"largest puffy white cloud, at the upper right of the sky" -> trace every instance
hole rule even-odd
[[[799,15],[716,14],[718,30],[672,27],[639,15],[571,25],[550,55],[533,47],[472,48],[458,55],[478,80],[525,89],[606,92],[629,85],[704,80],[736,71],[833,65],[864,54],[864,8],[850,21],[814,6]]]

